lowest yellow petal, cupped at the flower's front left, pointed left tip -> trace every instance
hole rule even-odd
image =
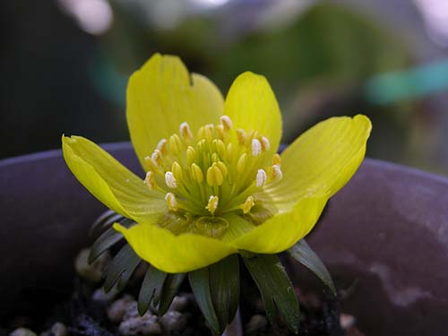
[[[168,229],[144,224],[125,228],[114,224],[134,252],[160,271],[194,271],[216,263],[237,250],[218,239],[192,233],[173,235]]]

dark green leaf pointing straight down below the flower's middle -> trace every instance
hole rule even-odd
[[[220,322],[220,329],[233,321],[239,303],[239,259],[229,255],[209,266],[211,301]]]

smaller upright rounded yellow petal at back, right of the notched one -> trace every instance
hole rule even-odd
[[[258,131],[271,142],[271,152],[277,151],[281,138],[279,104],[269,82],[262,75],[242,73],[233,82],[224,104],[235,129]]]

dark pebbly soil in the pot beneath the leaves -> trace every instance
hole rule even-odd
[[[31,297],[27,297],[33,304],[24,304],[21,314],[10,315],[8,320],[1,321],[0,336],[211,334],[187,281],[164,317],[158,318],[151,312],[139,316],[135,297],[138,297],[143,274],[144,267],[137,269],[123,293],[112,290],[106,294],[100,288],[100,282],[80,276],[73,280],[69,297],[61,295],[58,289],[34,289],[29,293]],[[263,301],[245,271],[242,272],[241,292],[244,296],[239,311],[245,335],[293,335],[280,318],[273,324],[267,321]],[[358,331],[354,316],[340,313],[337,297],[329,293],[302,292],[297,288],[296,293],[301,314],[298,335],[364,336]]]

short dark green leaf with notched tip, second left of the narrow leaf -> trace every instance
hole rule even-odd
[[[160,296],[163,289],[163,283],[167,279],[168,273],[159,271],[153,266],[148,267],[148,271],[144,275],[142,287],[138,299],[138,312],[142,316],[148,311],[148,308],[153,303],[157,306],[160,302]]]

